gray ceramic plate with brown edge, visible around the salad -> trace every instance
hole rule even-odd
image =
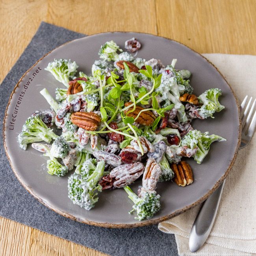
[[[195,94],[206,89],[218,87],[223,90],[221,103],[224,111],[215,114],[215,119],[193,121],[193,127],[202,132],[218,134],[226,142],[213,143],[210,153],[201,165],[188,160],[194,173],[194,183],[180,187],[172,182],[160,183],[157,192],[161,195],[161,211],[152,219],[136,221],[129,215],[132,202],[123,189],[104,191],[95,208],[90,211],[74,205],[67,194],[67,178],[51,176],[46,171],[46,158],[31,146],[24,151],[19,148],[17,135],[27,117],[37,109],[49,106],[39,91],[46,87],[52,95],[56,87],[63,87],[44,68],[54,58],[67,58],[76,61],[79,69],[89,74],[95,59],[98,59],[100,46],[114,40],[124,47],[124,42],[136,37],[142,43],[138,57],[161,59],[165,65],[177,58],[177,69],[188,69],[192,73],[191,84]],[[236,98],[228,83],[218,70],[200,54],[188,47],[163,37],[144,33],[101,33],[77,39],[62,45],[40,59],[22,76],[10,97],[4,121],[4,142],[6,153],[14,173],[21,184],[45,206],[71,219],[105,227],[134,227],[159,223],[188,210],[205,200],[224,180],[230,170],[239,146],[239,110]],[[132,189],[136,191],[141,181],[135,182]]]

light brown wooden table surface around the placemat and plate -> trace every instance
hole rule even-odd
[[[91,35],[137,31],[200,53],[256,54],[256,0],[0,0],[0,82],[41,21]],[[106,255],[0,217],[0,255]]]

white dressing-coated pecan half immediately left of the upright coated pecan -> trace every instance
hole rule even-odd
[[[137,180],[143,174],[144,168],[144,165],[140,162],[127,163],[115,167],[109,176],[115,180],[114,187],[125,187]]]

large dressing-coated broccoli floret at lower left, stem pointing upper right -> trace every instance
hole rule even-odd
[[[69,198],[74,204],[79,205],[85,210],[91,210],[95,203],[98,202],[98,193],[101,192],[102,186],[98,185],[99,180],[104,174],[105,162],[97,163],[95,171],[87,180],[83,180],[79,174],[74,173],[68,180]]]

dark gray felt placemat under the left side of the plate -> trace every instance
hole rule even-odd
[[[0,86],[0,120],[4,120],[9,96],[24,72],[50,50],[84,36],[42,22]],[[2,134],[2,122],[0,129]],[[21,186],[7,160],[2,137],[0,157],[1,216],[111,255],[178,255],[174,235],[160,232],[157,225],[131,229],[99,228],[58,215],[39,203]]]

